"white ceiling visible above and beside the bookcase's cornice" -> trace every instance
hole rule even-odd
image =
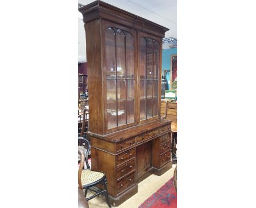
[[[89,4],[95,0],[78,0],[79,4]],[[147,20],[167,27],[165,38],[177,39],[177,0],[104,0],[120,9],[141,16]],[[86,62],[85,31],[83,16],[78,12],[78,62]],[[177,42],[176,42],[177,44]],[[173,44],[163,44],[163,48],[169,48]]]

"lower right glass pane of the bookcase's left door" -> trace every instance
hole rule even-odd
[[[134,79],[127,80],[127,124],[134,120]]]

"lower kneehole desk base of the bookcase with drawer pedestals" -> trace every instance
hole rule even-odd
[[[161,175],[172,167],[170,124],[164,121],[141,131],[123,131],[118,135],[124,140],[113,135],[112,142],[91,138],[91,168],[106,174],[112,205],[118,206],[136,194],[138,182],[150,174]]]

